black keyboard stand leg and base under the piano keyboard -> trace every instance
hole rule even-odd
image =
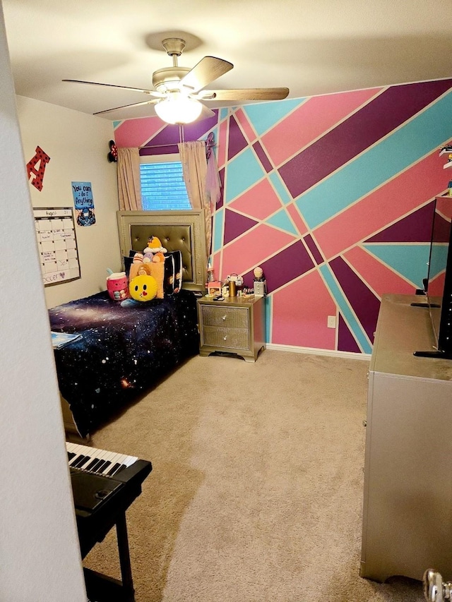
[[[119,514],[116,522],[121,580],[83,568],[86,592],[90,602],[135,602],[132,568],[127,537],[126,513]]]

